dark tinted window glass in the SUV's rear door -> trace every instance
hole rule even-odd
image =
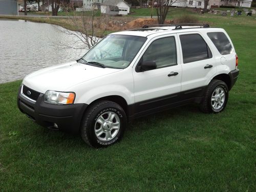
[[[204,60],[212,57],[206,42],[199,34],[180,35],[183,63]]]

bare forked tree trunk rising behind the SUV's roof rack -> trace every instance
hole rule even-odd
[[[209,1],[209,0],[208,0]],[[157,19],[158,24],[164,24],[164,21],[166,19],[167,13],[171,11],[179,10],[179,8],[176,8],[175,10],[169,10],[171,6],[174,4],[184,4],[183,6],[186,7],[186,0],[156,0],[156,10],[157,10]],[[180,8],[184,9],[184,8]]]

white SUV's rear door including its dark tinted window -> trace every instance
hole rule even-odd
[[[180,33],[179,39],[182,63],[181,92],[187,98],[200,96],[217,72],[216,59],[200,33]]]

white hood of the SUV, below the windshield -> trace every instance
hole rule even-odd
[[[24,78],[23,84],[40,93],[47,90],[69,92],[73,91],[69,88],[78,83],[120,70],[122,69],[99,68],[74,61],[33,72]]]

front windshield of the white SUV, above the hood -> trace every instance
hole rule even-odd
[[[123,69],[130,65],[146,37],[108,35],[82,58],[88,65]]]

